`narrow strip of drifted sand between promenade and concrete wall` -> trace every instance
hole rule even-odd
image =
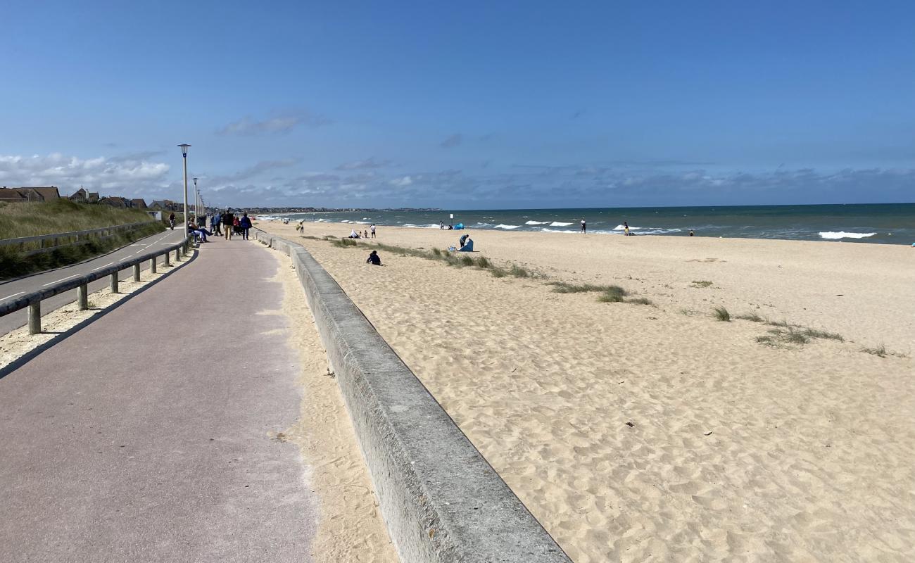
[[[355,432],[337,382],[328,374],[305,292],[292,261],[282,259],[276,280],[283,283],[282,313],[290,319],[289,341],[300,354],[303,398],[296,426],[274,438],[291,440],[311,468],[307,482],[320,498],[315,563],[396,563],[399,559],[384,527]]]

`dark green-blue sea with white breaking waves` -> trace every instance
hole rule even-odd
[[[915,244],[915,203],[626,207],[586,209],[320,211],[261,215],[263,220],[328,222],[361,228],[375,223],[414,229],[466,229],[637,236],[695,236],[842,243]]]

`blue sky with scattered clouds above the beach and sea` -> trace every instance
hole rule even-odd
[[[221,207],[915,200],[911,2],[2,13],[3,186],[182,200],[188,143]]]

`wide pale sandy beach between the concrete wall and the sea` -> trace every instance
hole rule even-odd
[[[578,563],[915,560],[915,250],[473,232],[476,255],[548,276],[518,279],[383,251],[370,266],[364,246],[259,226],[315,255]],[[378,232],[426,249],[460,234]],[[713,306],[845,342],[764,346],[772,327]],[[899,355],[861,351],[880,344]]]

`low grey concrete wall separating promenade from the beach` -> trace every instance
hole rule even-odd
[[[296,267],[401,560],[571,563],[311,254],[252,232]]]

